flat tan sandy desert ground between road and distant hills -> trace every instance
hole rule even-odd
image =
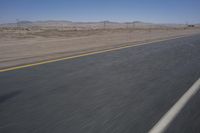
[[[200,29],[0,30],[0,69],[130,42],[200,33]]]

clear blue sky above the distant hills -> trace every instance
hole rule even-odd
[[[0,23],[16,19],[199,23],[200,0],[0,0]]]

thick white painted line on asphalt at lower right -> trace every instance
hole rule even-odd
[[[200,90],[200,78],[172,106],[172,108],[156,123],[148,133],[163,133],[188,101]]]

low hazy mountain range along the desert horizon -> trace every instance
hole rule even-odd
[[[134,27],[134,28],[157,28],[157,27],[183,27],[184,24],[153,24],[141,21],[134,22],[111,22],[111,21],[101,21],[101,22],[72,22],[72,21],[19,21],[17,23],[5,23],[0,24],[0,27],[85,27],[85,28],[124,28],[124,27]]]

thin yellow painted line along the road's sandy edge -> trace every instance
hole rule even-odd
[[[146,45],[146,44],[151,44],[151,43],[156,43],[156,42],[163,42],[163,41],[173,40],[173,39],[182,38],[182,37],[185,37],[185,36],[179,36],[179,37],[174,37],[174,38],[170,38],[170,39],[156,40],[156,41],[139,43],[139,44],[134,44],[134,45],[126,45],[126,46],[121,46],[121,47],[117,47],[117,48],[110,48],[110,49],[106,49],[106,50],[99,50],[99,51],[95,51],[95,52],[88,52],[88,53],[83,53],[83,54],[74,55],[74,56],[68,56],[68,57],[63,57],[63,58],[58,58],[58,59],[41,61],[41,62],[37,62],[37,63],[19,65],[19,66],[15,66],[15,67],[0,69],[0,73],[12,71],[12,70],[17,70],[17,69],[22,69],[22,68],[27,68],[27,67],[33,67],[33,66],[48,64],[48,63],[53,63],[53,62],[57,62],[57,61],[69,60],[69,59],[74,59],[74,58],[79,58],[79,57],[84,57],[84,56],[89,56],[89,55],[94,55],[94,54],[116,51],[116,50],[121,50],[121,49],[125,49],[125,48],[136,47],[136,46],[141,46],[141,45]]]

